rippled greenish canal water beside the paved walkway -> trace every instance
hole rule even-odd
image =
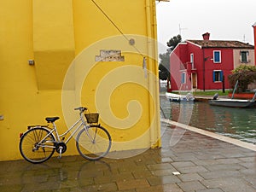
[[[256,143],[256,108],[224,108],[207,102],[169,102],[160,96],[166,118],[247,143]]]

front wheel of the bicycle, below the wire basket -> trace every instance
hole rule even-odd
[[[111,137],[100,125],[90,125],[79,131],[76,146],[79,154],[87,160],[100,160],[111,148]]]

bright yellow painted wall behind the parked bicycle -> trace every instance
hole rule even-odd
[[[154,1],[96,3],[123,34],[92,1],[2,2],[0,160],[20,159],[19,133],[46,116],[60,116],[66,131],[79,105],[101,113],[112,150],[160,146]],[[96,61],[102,50],[120,50],[125,61]],[[73,141],[66,154],[78,154]]]

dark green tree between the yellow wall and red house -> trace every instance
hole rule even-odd
[[[166,49],[166,53],[160,54],[160,65],[159,65],[159,78],[161,80],[167,80],[167,87],[170,84],[170,54],[172,50],[176,48],[177,44],[182,41],[181,35],[174,36],[166,44],[169,47]]]

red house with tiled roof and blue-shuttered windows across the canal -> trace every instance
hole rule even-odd
[[[241,64],[255,65],[254,47],[239,41],[203,40],[180,43],[170,55],[171,90],[229,89],[228,76]]]

